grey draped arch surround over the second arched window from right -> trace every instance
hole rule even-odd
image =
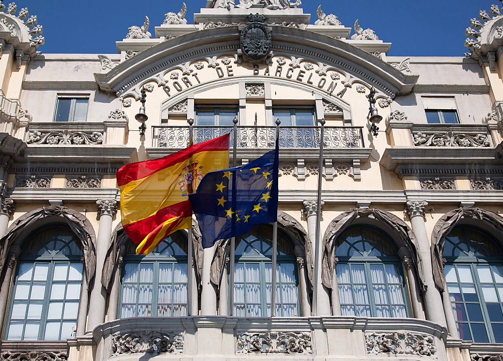
[[[328,225],[323,235],[323,256],[321,260],[321,276],[323,285],[332,288],[334,270],[334,255],[336,253],[336,239],[351,225],[374,225],[386,232],[398,246],[398,254],[402,261],[409,259],[421,290],[424,290],[424,273],[420,258],[417,254],[417,239],[412,230],[396,215],[369,208],[354,208],[349,212],[339,214]]]

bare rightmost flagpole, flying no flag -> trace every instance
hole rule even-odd
[[[318,172],[318,196],[317,196],[317,204],[316,204],[316,236],[314,240],[314,284],[313,284],[313,306],[312,306],[312,315],[318,316],[318,292],[321,291],[320,287],[323,287],[321,284],[319,272],[320,264],[320,252],[321,252],[321,183],[323,180],[323,137],[325,130],[325,119],[320,119],[319,123],[321,124],[320,132],[319,132],[319,172]]]

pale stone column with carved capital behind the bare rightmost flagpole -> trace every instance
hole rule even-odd
[[[323,204],[324,202],[321,201],[321,205]],[[307,234],[309,235],[309,238],[311,240],[311,245],[314,252],[316,252],[316,245],[314,244],[316,240],[316,208],[317,204],[315,200],[304,200],[303,211],[305,212],[307,219]],[[320,242],[322,242],[321,238]],[[314,269],[314,272],[316,272],[314,279],[318,279],[318,291],[316,294],[316,308],[318,311],[317,316],[330,316],[330,298],[328,297],[328,289],[321,282],[321,259],[323,255],[322,245],[320,245],[319,247],[319,253],[319,267],[318,269]],[[314,255],[314,257],[316,257],[316,254]]]

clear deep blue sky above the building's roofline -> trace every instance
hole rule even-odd
[[[238,1],[238,0],[236,0]],[[391,42],[391,56],[462,56],[465,29],[479,10],[489,12],[497,0],[304,0],[304,13],[317,19],[321,4],[325,14],[333,13],[346,27],[356,19],[364,29],[373,29],[379,39]],[[4,4],[9,4],[5,0]],[[187,19],[205,7],[206,0],[186,0]],[[28,8],[44,27],[44,53],[116,53],[115,41],[127,34],[131,25],[141,26],[145,15],[150,30],[162,24],[164,14],[178,13],[182,1],[161,0],[16,0],[18,9]]]

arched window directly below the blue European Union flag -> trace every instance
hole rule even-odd
[[[256,226],[236,237],[234,264],[234,316],[271,316],[273,229]],[[276,316],[299,315],[298,277],[293,247],[278,230]]]

